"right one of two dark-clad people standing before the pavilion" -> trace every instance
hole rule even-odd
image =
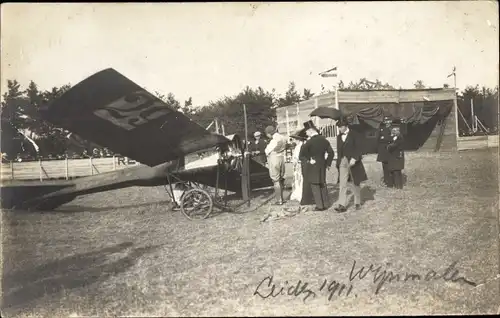
[[[388,186],[397,189],[403,189],[403,173],[405,168],[405,153],[403,150],[403,136],[399,127],[393,127],[391,130],[391,142],[387,145],[389,159],[387,168],[390,173]]]

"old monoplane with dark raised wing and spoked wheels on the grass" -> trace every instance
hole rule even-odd
[[[76,179],[22,208],[53,210],[80,195],[128,186],[167,185],[175,202],[173,185],[180,183],[187,189],[176,202],[181,211],[206,218],[213,205],[222,205],[219,189],[224,197],[231,191],[248,200],[249,189],[272,185],[268,169],[245,155],[239,136],[209,132],[111,68],[72,87],[40,116],[142,165]],[[201,158],[200,151],[210,155]]]

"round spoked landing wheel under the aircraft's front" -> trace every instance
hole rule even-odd
[[[191,189],[181,198],[181,212],[190,220],[206,219],[212,213],[212,197],[202,189]]]

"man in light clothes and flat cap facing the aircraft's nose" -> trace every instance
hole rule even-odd
[[[264,152],[267,156],[269,176],[274,183],[276,204],[281,205],[283,200],[283,187],[285,183],[285,150],[287,140],[280,135],[276,128],[267,126],[265,130],[267,138],[270,139]]]

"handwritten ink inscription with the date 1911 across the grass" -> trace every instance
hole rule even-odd
[[[253,295],[263,299],[276,298],[280,296],[300,297],[305,302],[306,300],[314,299],[320,295],[326,295],[329,301],[334,297],[349,297],[352,294],[354,285],[352,284],[356,279],[359,281],[367,277],[373,279],[375,284],[375,295],[379,294],[382,287],[386,283],[401,282],[401,283],[417,283],[419,281],[446,281],[452,283],[463,283],[470,286],[477,286],[477,284],[463,276],[459,276],[459,270],[456,269],[457,262],[450,264],[444,271],[439,272],[435,270],[428,270],[425,273],[395,273],[392,270],[384,268],[383,265],[374,265],[365,267],[361,266],[356,268],[356,261],[353,262],[349,272],[349,283],[343,283],[338,280],[325,279],[321,284],[311,284],[310,282],[290,283],[286,280],[284,283],[274,281],[273,276],[265,277],[257,285]]]

